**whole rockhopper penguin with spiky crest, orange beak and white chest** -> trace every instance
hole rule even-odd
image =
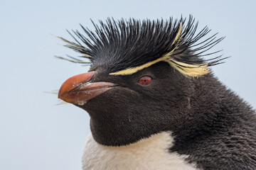
[[[223,38],[191,16],[94,26],[60,38],[91,62],[58,94],[90,115],[82,169],[256,169],[255,111],[209,69]]]

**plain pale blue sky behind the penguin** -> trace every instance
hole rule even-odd
[[[53,59],[76,55],[49,33],[69,38],[65,29],[92,28],[107,18],[179,18],[193,14],[199,28],[226,36],[225,64],[216,77],[252,106],[255,99],[255,1],[0,1],[0,169],[80,169],[89,116],[71,104],[55,106],[58,89],[87,67]]]

